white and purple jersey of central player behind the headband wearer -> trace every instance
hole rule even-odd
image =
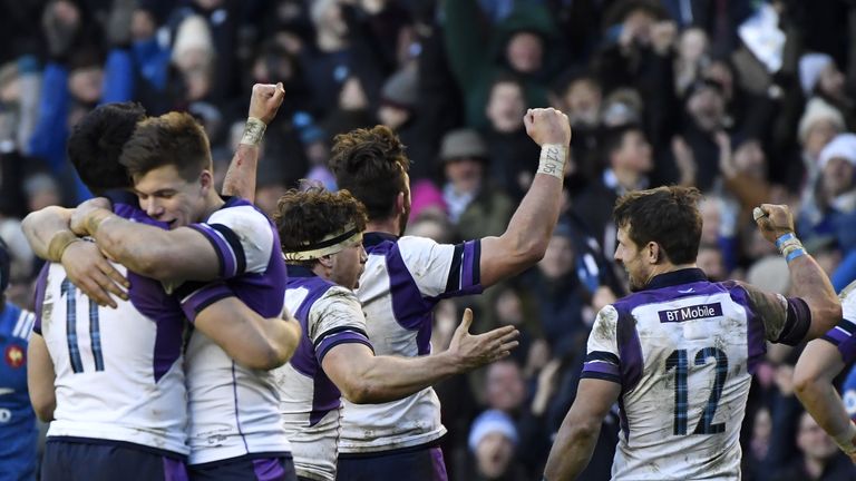
[[[444,297],[481,292],[480,240],[449,245],[369,233],[363,245],[369,258],[357,297],[374,353],[407,357],[430,354],[434,306]],[[343,403],[342,454],[415,446],[446,433],[440,403],[431,387],[382,404]]]

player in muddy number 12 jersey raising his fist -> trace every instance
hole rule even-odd
[[[786,257],[796,297],[709,282],[696,267],[699,199],[696,188],[659,187],[616,202],[614,257],[633,294],[597,314],[545,479],[576,478],[615,402],[622,430],[613,479],[740,479],[740,424],[766,343],[796,345],[840,320],[831,284],[794,236],[787,206],[765,204],[756,218]]]

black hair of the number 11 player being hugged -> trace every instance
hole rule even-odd
[[[68,158],[94,194],[132,186],[119,155],[137,122],[145,118],[146,110],[139,104],[115,102],[96,107],[75,126],[68,137]]]

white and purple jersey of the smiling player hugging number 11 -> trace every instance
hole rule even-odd
[[[191,227],[211,240],[223,279],[187,282],[178,288],[191,322],[206,306],[232,295],[263,317],[282,315],[285,264],[276,228],[264,214],[233,197],[205,223]],[[191,335],[185,355],[189,464],[290,452],[270,372],[241,366],[198,331]]]

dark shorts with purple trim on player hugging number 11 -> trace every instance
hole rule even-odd
[[[241,457],[187,467],[191,481],[296,481],[291,454]]]

